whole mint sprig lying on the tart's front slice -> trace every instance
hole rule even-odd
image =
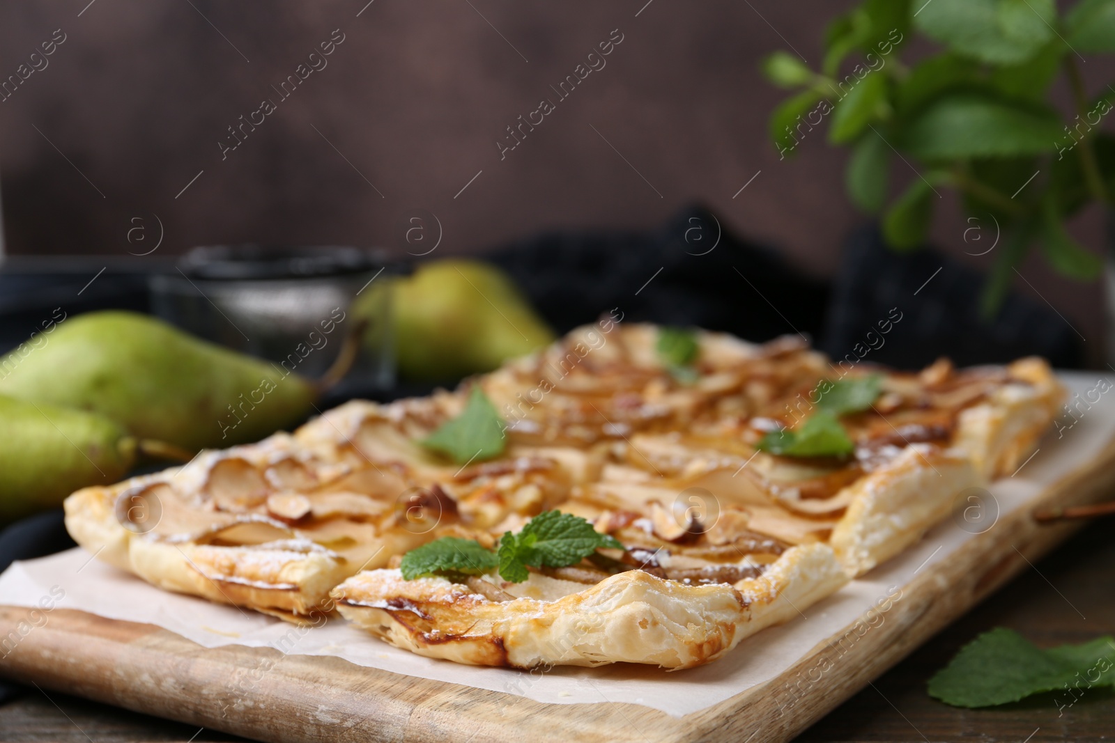
[[[407,580],[437,574],[481,575],[498,568],[504,580],[523,583],[531,575],[527,566],[569,567],[599,548],[623,549],[623,545],[580,516],[543,511],[518,534],[505,532],[497,554],[473,539],[442,537],[407,553],[400,567]]]

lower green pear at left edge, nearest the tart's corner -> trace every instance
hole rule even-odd
[[[97,413],[0,395],[0,524],[115,482],[136,460],[136,439]]]

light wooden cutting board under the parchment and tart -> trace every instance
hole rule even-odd
[[[46,625],[0,649],[0,674],[261,741],[787,741],[1078,528],[1041,526],[1035,509],[1113,495],[1115,442],[949,559],[919,570],[885,622],[862,638],[853,623],[769,682],[681,718],[634,704],[546,704],[334,657],[204,648],[152,625],[70,609],[55,609]],[[0,642],[31,622],[31,610],[0,606]],[[849,633],[857,639],[850,643]],[[237,700],[235,688],[251,692]]]

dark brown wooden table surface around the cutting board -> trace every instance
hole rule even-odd
[[[1060,711],[1055,694],[990,710],[958,710],[925,694],[925,681],[961,645],[1000,625],[1040,646],[1115,634],[1115,520],[1096,521],[1070,538],[797,740],[1040,743],[1115,739],[1115,694],[1106,690],[1087,691],[1075,705]],[[35,687],[0,705],[0,741],[235,740],[240,739],[62,694],[48,697]]]

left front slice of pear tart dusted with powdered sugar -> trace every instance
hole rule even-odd
[[[539,512],[585,475],[576,452],[527,448],[460,468],[418,446],[457,412],[449,394],[341,405],[293,436],[79,490],[66,526],[161,588],[316,622],[345,578],[464,525]]]

